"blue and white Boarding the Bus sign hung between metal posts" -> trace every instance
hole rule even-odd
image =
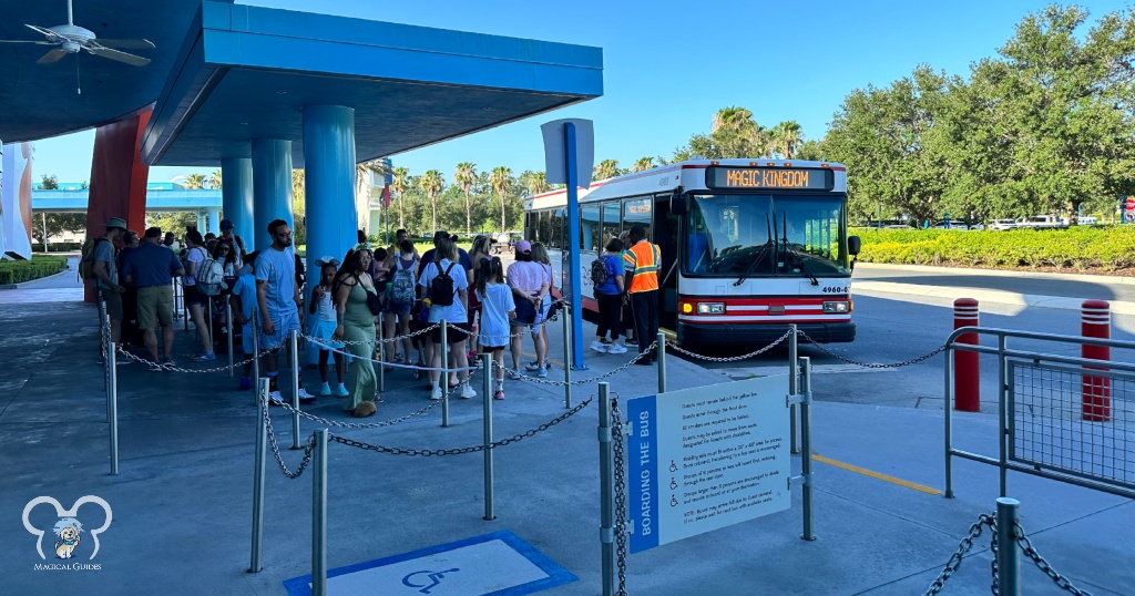
[[[631,553],[789,509],[788,377],[627,403]]]

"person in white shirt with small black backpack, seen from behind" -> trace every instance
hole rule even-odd
[[[465,338],[469,335],[469,325],[465,322],[469,308],[469,277],[465,268],[457,263],[457,246],[448,236],[439,236],[435,244],[434,261],[426,266],[418,286],[430,300],[429,322],[437,324],[443,320],[448,324],[446,341],[449,344],[451,364],[455,369],[464,369],[469,366],[469,358],[465,354]],[[427,347],[430,354],[431,367],[442,368],[442,329],[430,331],[429,342],[432,345]],[[430,370],[430,400],[442,398],[442,386],[439,381],[440,371]],[[469,400],[477,397],[477,392],[469,386],[469,371],[460,370],[456,373],[460,379],[457,384],[448,383],[449,389],[461,388],[461,397]]]

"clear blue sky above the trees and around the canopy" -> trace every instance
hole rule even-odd
[[[238,2],[293,10],[311,6],[310,0]],[[603,48],[604,96],[393,157],[412,175],[438,169],[449,182],[461,161],[479,170],[508,166],[514,175],[544,170],[539,124],[557,118],[594,120],[596,160],[616,159],[622,167],[645,156],[670,157],[691,134],[707,133],[714,112],[728,106],[748,108],[770,127],[793,119],[806,138],[821,138],[851,91],[886,86],[919,64],[967,76],[972,62],[997,56],[1016,24],[1048,3],[322,0],[317,10]],[[1125,3],[1081,6],[1092,12],[1091,26]],[[37,142],[36,177],[89,179],[93,141],[94,133],[84,132]],[[210,170],[151,168],[150,179],[193,171]]]

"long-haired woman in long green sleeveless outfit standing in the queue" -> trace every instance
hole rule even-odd
[[[367,272],[373,259],[369,249],[356,245],[343,258],[343,266],[335,274],[331,293],[338,326],[334,339],[346,342],[351,353],[350,402],[345,409],[358,418],[375,413],[378,377],[371,355],[375,353],[375,314],[367,305],[367,296],[377,295],[375,283]]]

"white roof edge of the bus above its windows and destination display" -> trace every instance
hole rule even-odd
[[[699,170],[705,170],[709,166],[830,168],[836,174],[833,191],[844,192],[847,190],[847,168],[842,163],[798,159],[691,159],[648,170],[632,171],[605,181],[595,181],[590,187],[579,190],[579,200],[583,203],[620,196],[656,194],[673,191],[679,186],[684,186],[688,190],[704,188],[705,178],[699,174]],[[524,200],[524,209],[546,209],[566,202],[568,191],[560,188],[529,196]]]

